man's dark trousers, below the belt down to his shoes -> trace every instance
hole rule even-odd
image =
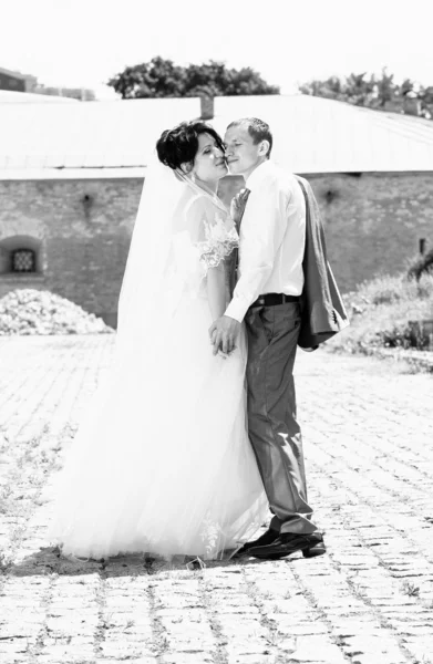
[[[248,430],[274,515],[270,527],[280,532],[315,532],[296,418],[293,364],[300,307],[298,302],[255,307],[245,322]]]

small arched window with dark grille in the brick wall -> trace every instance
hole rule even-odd
[[[0,240],[0,276],[31,273],[42,273],[41,241],[30,236]]]

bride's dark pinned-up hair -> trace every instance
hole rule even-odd
[[[198,136],[200,134],[209,134],[224,152],[223,139],[214,127],[200,120],[193,120],[182,122],[173,129],[165,129],[161,134],[156,143],[159,162],[173,169],[181,168],[182,164],[192,164],[198,151]]]

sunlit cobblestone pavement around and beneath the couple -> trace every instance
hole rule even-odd
[[[59,557],[54,477],[111,336],[0,338],[0,662],[433,662],[433,377],[300,353],[310,501],[328,554],[205,569]]]

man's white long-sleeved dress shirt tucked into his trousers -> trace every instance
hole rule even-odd
[[[239,279],[225,315],[241,322],[259,295],[300,295],[306,203],[295,176],[264,162],[247,178],[250,190],[239,232]]]

